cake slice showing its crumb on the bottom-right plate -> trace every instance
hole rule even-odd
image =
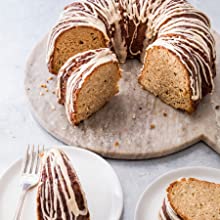
[[[219,220],[220,184],[183,178],[170,184],[161,220]]]

